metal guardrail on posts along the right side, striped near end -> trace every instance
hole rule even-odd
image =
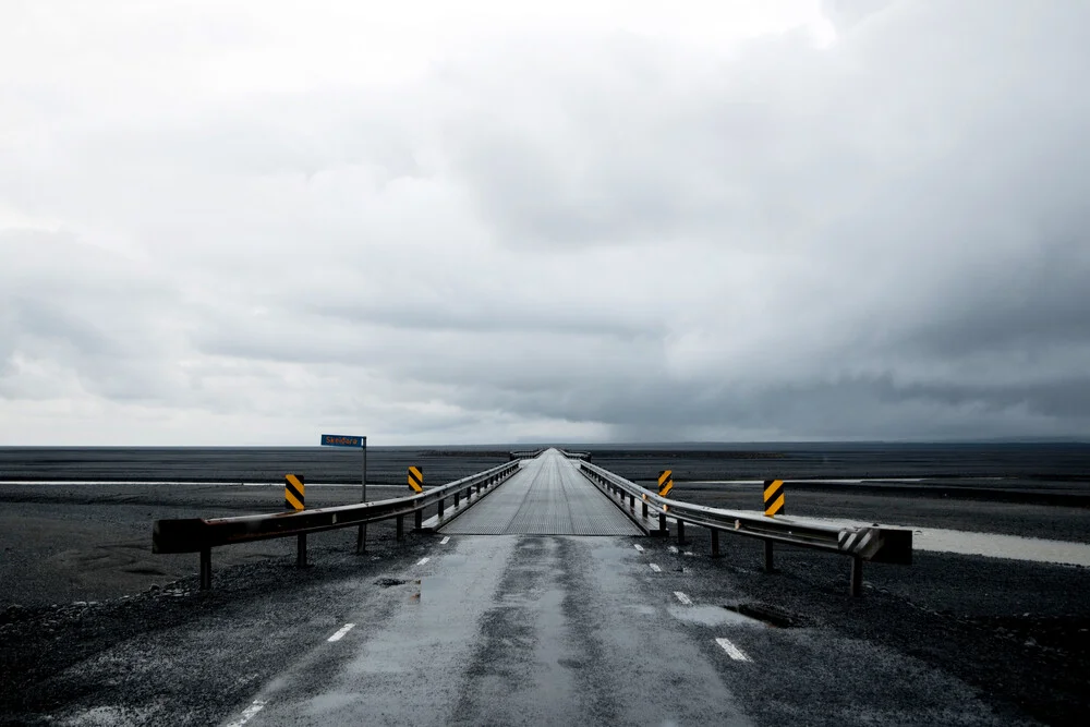
[[[768,518],[749,512],[720,510],[702,505],[659,497],[634,482],[604,470],[590,462],[580,462],[580,469],[592,482],[605,487],[631,502],[642,501],[644,518],[649,509],[658,513],[659,528],[666,531],[666,518],[677,521],[678,542],[685,542],[685,525],[691,523],[707,528],[712,535],[712,557],[719,556],[719,533],[730,533],[764,541],[764,569],[773,571],[773,546],[775,543],[816,548],[851,558],[851,595],[862,592],[863,561],[887,562],[908,566],[912,562],[912,531],[906,528],[838,528],[800,523],[790,518],[777,516]]]

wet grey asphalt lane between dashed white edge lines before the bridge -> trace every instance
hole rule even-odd
[[[347,613],[355,627],[270,684],[247,724],[751,724],[728,687],[748,664],[668,615],[676,596],[632,544],[452,538],[417,568],[419,598],[378,630]]]

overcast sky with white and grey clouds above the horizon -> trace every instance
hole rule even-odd
[[[0,445],[1090,438],[1090,3],[8,0]]]

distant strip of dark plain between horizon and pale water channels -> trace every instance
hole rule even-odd
[[[367,482],[404,484],[405,468],[425,481],[447,482],[505,462],[525,445],[371,447]],[[531,448],[532,449],[532,448]],[[1090,444],[753,444],[580,446],[594,462],[634,481],[673,469],[685,481],[765,478],[929,477],[961,485],[991,481],[1008,487],[1056,487],[1090,493]],[[304,473],[313,482],[360,482],[360,450],[328,447],[0,447],[4,480],[172,480],[282,482]]]

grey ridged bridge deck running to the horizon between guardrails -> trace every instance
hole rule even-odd
[[[640,535],[620,509],[555,449],[441,529],[462,535]]]

